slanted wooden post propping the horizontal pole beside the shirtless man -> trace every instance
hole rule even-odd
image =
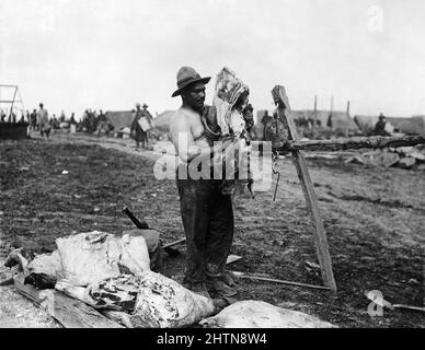
[[[272,90],[272,95],[274,102],[277,104],[279,118],[286,120],[288,125],[289,138],[292,140],[298,140],[298,132],[292,118],[285,115],[285,109],[289,109],[289,103],[285,93],[285,88],[282,85],[276,85]],[[301,183],[302,191],[306,197],[307,207],[310,212],[310,219],[315,229],[315,249],[322,270],[322,279],[324,284],[329,287],[331,291],[336,292],[336,283],[333,277],[332,260],[331,255],[329,254],[326,233],[324,232],[323,221],[320,217],[318,199],[315,198],[313,184],[307,167],[307,162],[302,151],[291,151],[291,153],[295,166],[297,168],[298,177]]]

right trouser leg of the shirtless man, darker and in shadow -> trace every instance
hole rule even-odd
[[[217,184],[219,184],[217,182]],[[223,271],[233,242],[233,208],[231,196],[225,196],[215,186],[214,201],[207,235],[207,273],[214,276]]]

